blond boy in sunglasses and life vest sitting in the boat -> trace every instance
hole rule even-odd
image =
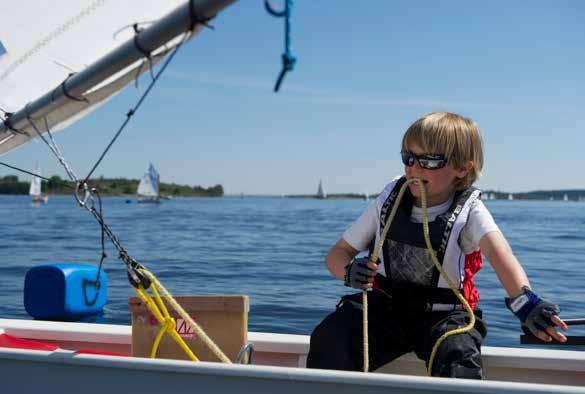
[[[414,351],[427,363],[437,339],[468,324],[461,302],[440,276],[426,249],[421,191],[408,186],[384,240],[379,264],[356,258],[378,242],[401,185],[421,179],[426,188],[429,232],[443,269],[476,315],[474,328],[447,337],[432,366],[433,376],[482,378],[481,342],[486,326],[477,309],[473,275],[481,254],[489,260],[508,296],[506,305],[523,329],[543,341],[565,342],[559,308],[530,290],[528,278],[495,224],[480,193],[472,188],[483,166],[482,139],[468,118],[430,113],[413,123],[402,139],[404,175],[390,182],[329,251],[331,274],[368,292],[371,370]],[[362,294],[342,297],[337,309],[313,331],[309,368],[359,371],[363,368]]]

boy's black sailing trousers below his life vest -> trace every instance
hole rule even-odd
[[[311,334],[308,368],[363,370],[362,294],[345,296]],[[403,354],[428,360],[437,339],[469,322],[465,311],[428,312],[399,308],[378,291],[368,292],[368,335],[372,371]],[[487,329],[476,311],[474,328],[447,337],[433,362],[433,376],[482,379],[481,342]]]

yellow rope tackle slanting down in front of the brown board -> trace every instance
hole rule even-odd
[[[175,342],[177,342],[177,344],[189,356],[189,358],[191,360],[193,360],[193,361],[199,360],[197,358],[197,356],[195,356],[195,354],[193,354],[193,352],[191,351],[189,346],[187,346],[187,344],[185,343],[183,338],[181,338],[181,336],[175,330],[175,321],[170,316],[170,314],[165,306],[165,303],[159,294],[159,291],[160,291],[162,293],[162,295],[165,297],[165,301],[167,303],[169,303],[169,305],[177,312],[177,314],[185,320],[185,322],[189,325],[189,327],[193,330],[193,332],[197,335],[197,337],[199,339],[201,339],[201,341],[211,350],[211,352],[218,359],[220,359],[222,362],[227,363],[227,364],[231,364],[230,359],[211,340],[211,338],[209,338],[209,336],[207,336],[205,331],[203,331],[203,329],[197,323],[195,323],[195,321],[191,318],[191,316],[189,316],[189,314],[187,312],[185,312],[185,310],[179,305],[179,303],[177,303],[177,301],[173,298],[171,293],[169,293],[167,291],[167,289],[165,289],[165,287],[158,281],[158,279],[150,271],[148,271],[145,268],[140,269],[140,271],[144,275],[146,275],[148,277],[148,279],[150,279],[150,282],[151,282],[150,288],[152,289],[152,293],[154,295],[155,301],[152,300],[152,297],[150,297],[150,295],[146,292],[146,290],[142,286],[140,286],[138,289],[136,289],[136,292],[137,292],[138,296],[148,305],[150,310],[154,313],[154,316],[156,317],[156,319],[162,325],[161,330],[159,331],[159,333],[157,334],[157,337],[155,338],[155,343],[154,343],[153,349],[151,351],[151,357],[154,358],[154,356],[156,355],[156,350],[158,348],[158,345],[160,343],[162,335],[165,332],[168,332],[173,337]],[[171,324],[172,324],[172,329],[171,329]]]

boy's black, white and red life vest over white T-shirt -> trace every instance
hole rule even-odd
[[[404,182],[404,177],[395,179],[380,195],[378,201],[384,203],[380,207],[376,243]],[[456,192],[449,209],[429,222],[431,245],[437,259],[472,309],[479,301],[473,276],[481,268],[481,253],[478,250],[465,255],[458,240],[467,223],[471,205],[480,195],[481,192],[475,188]],[[382,246],[374,289],[384,292],[396,304],[411,308],[433,311],[461,309],[460,301],[427,251],[422,223],[410,221],[413,202],[410,190],[406,189]],[[373,244],[374,240],[371,250]]]

